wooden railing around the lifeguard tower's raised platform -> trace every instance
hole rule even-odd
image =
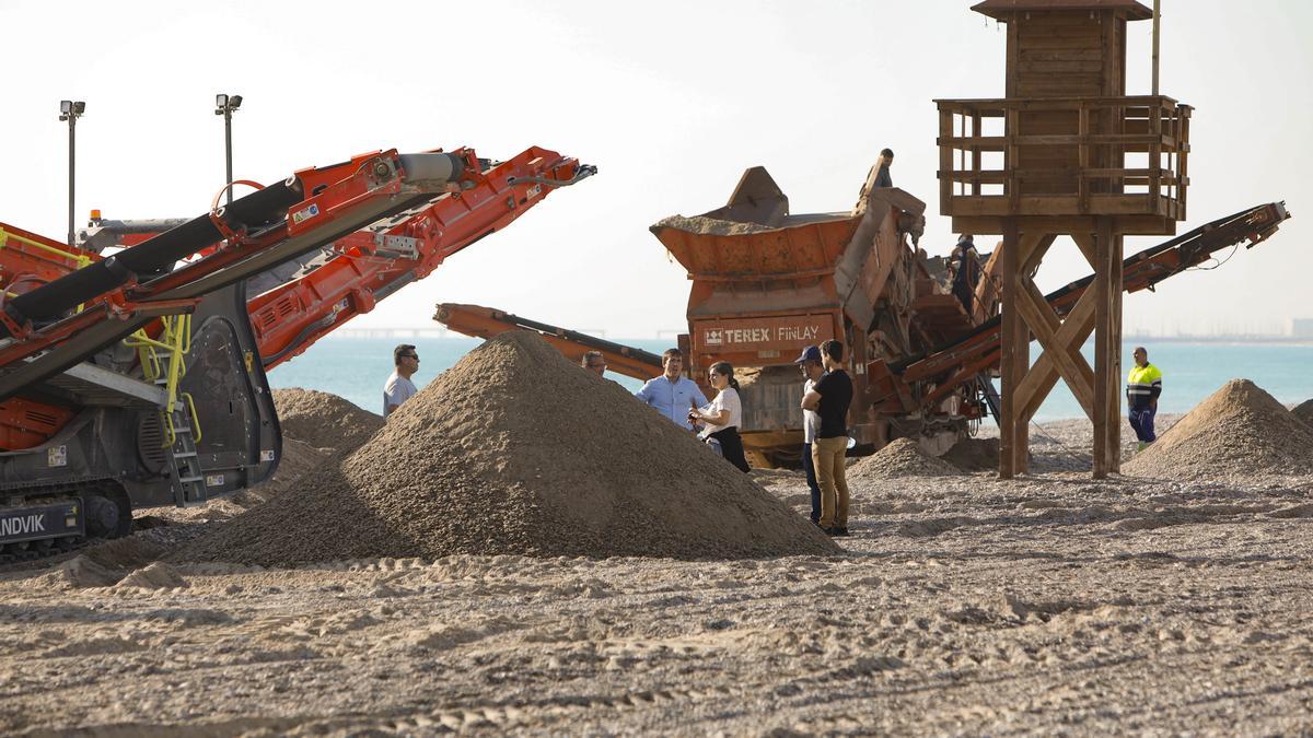
[[[1188,105],[1165,96],[936,102],[945,215],[1186,218]]]

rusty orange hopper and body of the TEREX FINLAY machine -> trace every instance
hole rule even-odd
[[[918,256],[924,207],[901,189],[867,186],[851,211],[793,215],[775,180],[755,167],[723,207],[651,227],[693,282],[681,337],[693,377],[705,381],[716,361],[743,369],[741,432],[759,462],[789,461],[802,443],[793,361],[804,348],[843,341],[855,382],[850,432],[878,448],[889,419],[872,412],[867,364],[928,351],[974,327]],[[962,412],[974,410],[945,402],[937,420],[956,440]],[[923,420],[924,435],[934,419]]]

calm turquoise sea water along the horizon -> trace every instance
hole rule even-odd
[[[420,370],[415,383],[424,387],[444,369],[482,343],[479,339],[347,339],[328,337],[306,353],[278,366],[269,374],[274,387],[307,387],[332,393],[372,412],[382,412],[383,382],[393,370],[393,347],[398,343],[419,347]],[[625,340],[618,343],[660,353],[668,340]],[[1127,366],[1132,345],[1123,348]],[[1258,386],[1285,403],[1313,398],[1313,347],[1288,344],[1149,344],[1149,360],[1163,373],[1161,412],[1186,412],[1236,377],[1253,380]],[[1086,347],[1086,358],[1094,364],[1094,349]],[[1032,345],[1031,355],[1039,355]],[[1125,368],[1124,368],[1125,369]],[[620,374],[608,374],[621,385],[637,390],[642,383]],[[1036,420],[1083,418],[1081,406],[1061,382],[1040,407]]]

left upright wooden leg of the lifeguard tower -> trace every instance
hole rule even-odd
[[[1023,412],[1016,391],[1025,373],[1024,364],[1022,364],[1024,357],[1019,357],[1016,353],[1020,344],[1018,336],[1027,332],[1022,311],[1016,305],[1020,250],[1022,242],[1018,238],[1016,219],[1007,218],[1003,221],[1003,301],[999,307],[999,368],[1003,374],[1003,418],[998,441],[999,479],[1011,479],[1016,475],[1020,471],[1016,464],[1018,456],[1025,457],[1027,439],[1018,437],[1018,428],[1024,428],[1024,422],[1019,423],[1019,416]],[[1020,452],[1018,450],[1019,445],[1022,446]]]

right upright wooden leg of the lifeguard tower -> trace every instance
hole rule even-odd
[[[1095,228],[1094,478],[1103,479],[1119,469],[1121,453],[1121,239],[1108,218],[1098,218]]]

